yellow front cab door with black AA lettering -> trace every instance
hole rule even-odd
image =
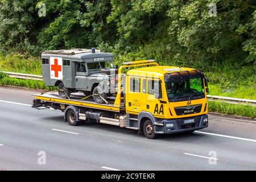
[[[162,93],[162,86],[159,79],[147,79],[147,111],[155,115],[155,117],[164,116],[164,105],[160,103],[160,99],[155,98],[154,85],[159,85],[159,92]]]

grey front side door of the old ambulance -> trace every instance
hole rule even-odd
[[[86,90],[86,68],[85,63],[76,63],[76,89]]]

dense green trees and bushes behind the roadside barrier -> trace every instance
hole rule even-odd
[[[46,16],[38,15],[40,3]],[[210,3],[216,3],[217,16],[210,16]],[[38,54],[103,47],[163,62],[254,63],[255,5],[251,0],[1,0],[0,49]]]

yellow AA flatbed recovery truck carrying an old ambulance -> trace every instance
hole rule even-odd
[[[53,91],[35,94],[33,107],[61,110],[72,126],[90,120],[138,130],[154,139],[157,134],[192,133],[208,127],[207,82],[196,69],[159,66],[154,60],[133,61],[119,67],[117,93],[105,104],[80,93],[60,98]]]

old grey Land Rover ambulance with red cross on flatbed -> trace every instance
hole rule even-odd
[[[48,86],[58,86],[59,96],[69,98],[71,93],[83,91],[85,95],[101,93],[106,99],[115,93],[117,80],[113,67],[114,55],[96,49],[70,49],[44,51],[42,53],[42,75]],[[112,84],[110,84],[112,83]],[[94,100],[103,103],[101,97]]]

